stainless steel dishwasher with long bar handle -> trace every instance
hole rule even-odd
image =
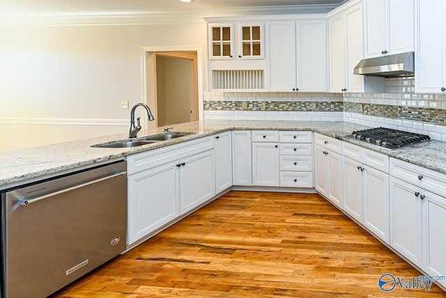
[[[1,297],[46,297],[126,248],[125,161],[1,193]]]

